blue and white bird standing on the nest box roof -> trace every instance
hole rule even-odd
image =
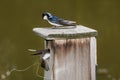
[[[47,20],[51,25],[53,25],[55,27],[76,26],[75,21],[64,20],[64,19],[58,18],[48,12],[44,12],[42,14],[42,19]]]

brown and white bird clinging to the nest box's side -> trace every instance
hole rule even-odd
[[[50,49],[44,49],[44,50],[34,50],[34,49],[28,49],[29,51],[36,52],[32,55],[39,55],[40,59],[42,60],[41,67],[44,68],[46,71],[49,70],[49,65],[47,62],[47,59],[50,58]]]

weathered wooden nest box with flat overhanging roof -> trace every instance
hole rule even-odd
[[[77,25],[76,28],[34,28],[50,49],[50,71],[44,80],[96,80],[97,31]]]

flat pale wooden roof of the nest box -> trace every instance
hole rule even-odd
[[[33,28],[33,31],[46,40],[75,39],[97,35],[96,30],[82,25],[71,28]]]

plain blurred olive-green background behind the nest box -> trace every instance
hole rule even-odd
[[[41,19],[44,11],[98,30],[97,69],[108,72],[97,72],[97,80],[120,80],[120,0],[1,0],[0,75],[39,62],[27,49],[44,48],[43,39],[32,31],[34,27],[51,27]],[[41,68],[39,74],[43,75]],[[36,76],[33,66],[13,72],[5,80],[43,79]]]

